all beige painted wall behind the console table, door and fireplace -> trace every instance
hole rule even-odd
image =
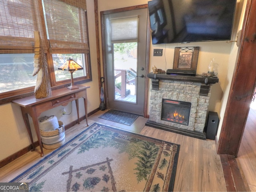
[[[99,8],[99,20],[100,11],[111,10],[122,7],[135,6],[140,4],[147,4],[147,0],[98,0]],[[238,29],[241,28],[241,12],[242,6],[244,4],[243,0],[240,1],[239,8],[237,9],[237,17],[234,24],[233,39],[236,39],[236,33]],[[98,89],[98,69],[97,66],[97,55],[96,55],[96,34],[95,34],[95,20],[94,20],[94,0],[87,0],[88,8],[88,26],[89,26],[89,40],[90,40],[90,56],[92,65],[92,82],[88,82],[85,85],[90,86],[88,89],[88,112],[95,110],[99,107],[99,89]],[[244,13],[243,13],[244,14]],[[242,15],[243,15],[242,14]],[[236,61],[237,46],[236,43],[226,43],[226,42],[198,42],[190,44],[163,44],[150,46],[150,72],[152,71],[152,66],[156,65],[157,68],[169,69],[172,68],[173,58],[174,58],[174,48],[178,46],[199,46],[200,53],[198,58],[197,73],[202,74],[202,72],[207,72],[208,64],[211,58],[215,58],[218,63],[218,77],[220,82],[212,87],[212,95],[210,99],[210,111],[218,112],[220,116],[220,126],[222,119],[224,117],[226,102],[228,98],[228,92],[230,88],[230,83],[232,80],[232,75],[234,71],[234,65]],[[153,49],[162,48],[164,54],[162,57],[153,57]],[[101,51],[101,48],[100,48]],[[149,84],[150,85],[150,84]],[[150,97],[150,94],[149,94]],[[84,109],[82,107],[83,101],[80,102],[80,116],[84,115]],[[71,104],[65,106],[66,112],[71,111]],[[76,110],[75,103],[72,102],[72,114],[68,116],[61,117],[60,110],[62,107],[57,107],[52,110],[46,111],[41,114],[44,115],[56,115],[59,120],[63,121],[64,124],[68,124],[76,120]],[[22,119],[22,114],[20,107],[12,103],[4,104],[0,106],[0,160],[18,152],[19,150],[27,147],[30,144],[30,140],[26,131],[25,124]],[[30,118],[30,125],[32,127],[33,138],[36,141],[36,134],[34,131],[34,126],[32,125],[32,120]],[[220,133],[220,128],[218,135]]]

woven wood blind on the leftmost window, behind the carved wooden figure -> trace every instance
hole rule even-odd
[[[0,53],[33,53],[38,30],[33,0],[0,1]]]

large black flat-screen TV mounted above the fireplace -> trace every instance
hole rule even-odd
[[[148,2],[152,44],[230,40],[236,0]]]

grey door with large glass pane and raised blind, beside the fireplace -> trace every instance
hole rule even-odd
[[[148,9],[103,14],[108,108],[144,115]]]

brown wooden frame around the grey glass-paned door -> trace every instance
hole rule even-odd
[[[138,9],[144,9],[148,8],[148,4],[144,5],[138,5],[138,6],[131,6],[131,7],[125,7],[125,8],[118,8],[113,10],[106,10],[100,12],[100,20],[101,20],[101,29],[104,29],[104,14],[112,14],[117,12],[124,12],[124,11],[130,11],[130,10],[138,10]],[[147,22],[147,39],[146,39],[146,67],[145,67],[145,73],[148,74],[149,72],[149,54],[150,54],[150,22],[148,19]],[[105,56],[105,36],[104,36],[104,30],[101,30],[101,43],[102,43],[102,62],[103,62],[103,74],[105,78],[104,82],[104,99],[105,99],[105,106],[108,109],[108,85],[107,85],[107,75],[106,75],[106,56]],[[148,77],[145,75],[145,93],[144,93],[144,118],[148,118]]]

